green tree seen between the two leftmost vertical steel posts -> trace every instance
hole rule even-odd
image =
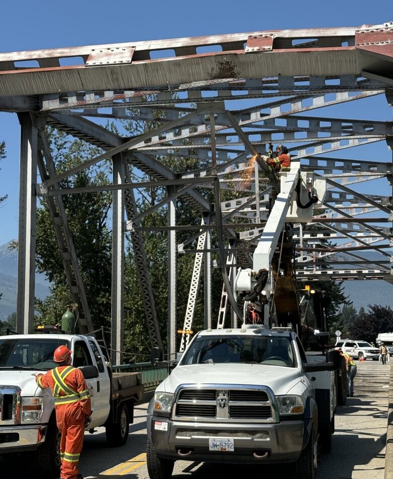
[[[48,129],[48,138],[57,173],[67,171],[101,150],[65,133]],[[83,170],[61,182],[63,188],[108,184],[108,165]],[[111,234],[107,226],[111,193],[63,196],[82,278],[95,327],[110,326]],[[46,200],[37,211],[37,269],[51,282],[51,295],[36,300],[39,322],[57,324],[71,302]]]

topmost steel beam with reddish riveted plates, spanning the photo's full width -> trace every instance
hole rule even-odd
[[[0,96],[58,92],[154,89],[216,78],[263,78],[282,75],[359,75],[364,71],[390,84],[389,23],[329,29],[258,31],[151,42],[90,45],[0,54]],[[305,41],[304,39],[310,39]],[[312,41],[311,41],[312,39]],[[346,42],[343,44],[343,42]],[[222,51],[199,53],[220,45]],[[244,45],[246,45],[244,47]],[[174,57],[151,58],[151,51],[171,50]],[[82,57],[82,64],[60,66],[60,58]],[[257,61],[255,61],[257,58]],[[35,60],[33,68],[18,61]]]

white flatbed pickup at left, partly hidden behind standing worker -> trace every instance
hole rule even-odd
[[[85,375],[92,401],[89,431],[105,426],[108,443],[125,444],[134,403],[143,385],[138,373],[113,373],[97,341],[91,336],[41,334],[0,336],[0,455],[35,451],[43,476],[59,475],[59,439],[53,395],[37,387],[32,373],[56,366],[54,350],[65,345],[73,351],[72,364]]]

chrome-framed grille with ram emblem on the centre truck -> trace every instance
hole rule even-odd
[[[225,387],[225,386],[224,386]],[[265,386],[248,389],[182,388],[173,408],[173,419],[204,422],[275,421],[272,418],[271,394]],[[260,387],[260,388],[259,388]]]

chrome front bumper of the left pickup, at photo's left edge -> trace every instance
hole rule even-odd
[[[36,449],[45,441],[47,426],[0,427],[0,453]]]

